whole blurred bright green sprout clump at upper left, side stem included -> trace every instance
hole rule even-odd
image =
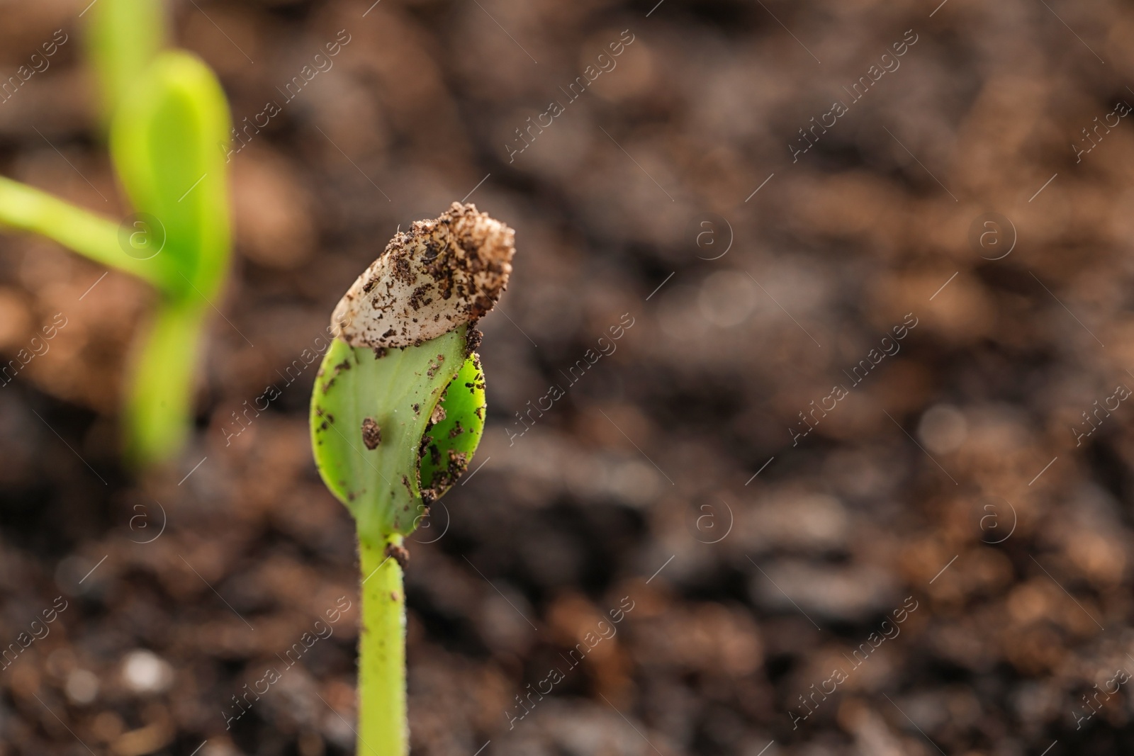
[[[110,156],[130,206],[121,223],[0,178],[0,224],[34,231],[158,290],[125,399],[127,457],[170,459],[185,442],[205,315],[225,283],[231,235],[225,93],[197,57],[161,50],[160,3],[101,0],[88,50]]]

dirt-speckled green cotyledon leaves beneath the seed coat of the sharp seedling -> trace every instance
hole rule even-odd
[[[468,465],[483,430],[484,380],[467,332],[463,325],[400,349],[350,347],[335,339],[323,357],[311,401],[315,464],[354,515],[359,537],[371,544],[408,535],[416,526],[423,452],[426,504]],[[463,432],[454,433],[458,422]],[[431,439],[423,444],[425,435]],[[433,462],[434,453],[440,464]]]

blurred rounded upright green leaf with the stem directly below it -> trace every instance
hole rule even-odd
[[[223,286],[231,246],[218,147],[228,130],[217,77],[180,51],[154,58],[111,125],[111,158],[138,211],[124,233],[141,235],[141,245],[128,246],[145,252],[164,294],[127,399],[127,451],[143,464],[172,457],[188,432],[203,316]]]

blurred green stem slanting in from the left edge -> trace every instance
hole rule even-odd
[[[118,223],[3,177],[0,224],[42,233],[96,263],[136,275],[159,290],[169,289],[153,263],[126,254],[119,244]]]

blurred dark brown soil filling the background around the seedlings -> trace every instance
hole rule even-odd
[[[3,78],[67,34],[0,104],[0,170],[125,218],[86,2],[0,2]],[[476,473],[409,544],[415,754],[1134,749],[1134,6],[170,12],[237,124],[281,112],[231,158],[234,273],[171,469],[117,453],[146,288],[0,236],[3,359],[66,322],[0,388],[0,643],[65,606],[0,671],[0,754],[353,751],[353,524],[301,355],[399,224],[474,188],[518,254]]]

